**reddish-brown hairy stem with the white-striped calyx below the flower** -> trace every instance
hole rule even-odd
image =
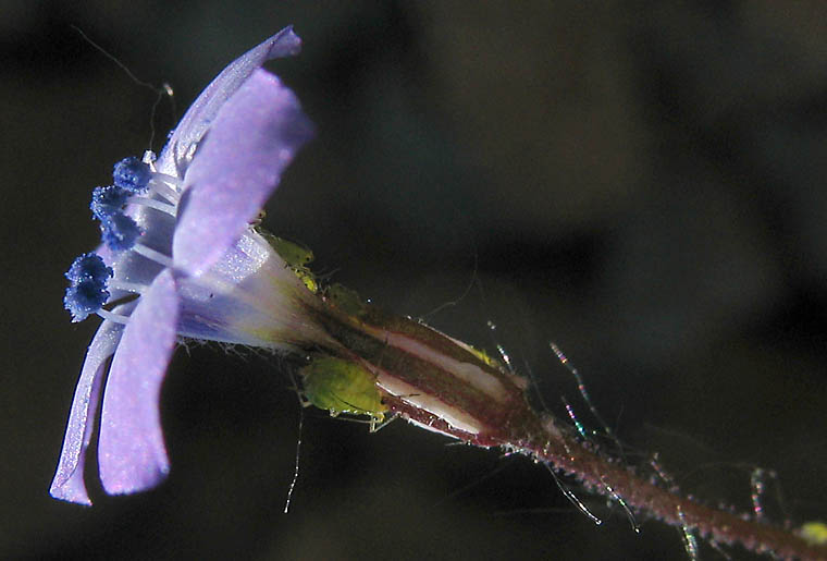
[[[311,306],[340,345],[325,353],[358,363],[377,378],[382,402],[422,428],[481,447],[503,447],[576,477],[589,490],[718,544],[740,544],[787,559],[827,559],[827,547],[792,530],[714,509],[664,489],[595,450],[526,398],[528,381],[483,352],[409,318],[372,306]]]

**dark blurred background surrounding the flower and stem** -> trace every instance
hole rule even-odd
[[[226,63],[291,23],[304,52],[269,68],[318,135],[266,225],[374,303],[503,344],[552,412],[565,397],[598,428],[555,341],[628,462],[658,452],[687,492],[739,511],[754,467],[774,469],[772,520],[824,519],[823,2],[4,0],[0,558],[684,557],[675,528],[635,535],[572,483],[595,527],[527,459],[311,410],[285,515],[285,365],[215,345],[170,368],[166,483],[109,498],[89,462],[94,508],[49,498],[97,327],[70,322],[62,275],[97,244],[89,193],[147,148],[155,101],[72,25],[174,88],[158,150]]]

